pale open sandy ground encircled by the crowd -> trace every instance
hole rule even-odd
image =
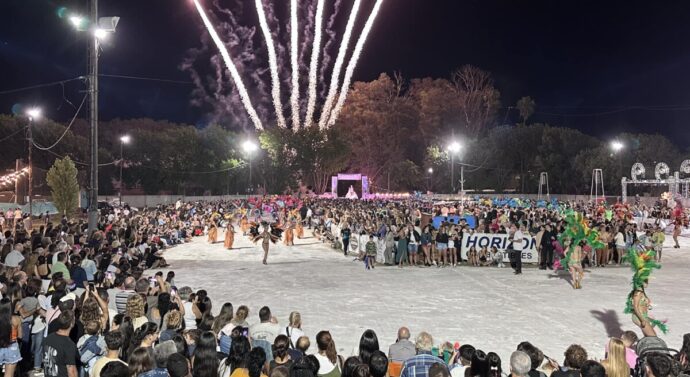
[[[434,343],[458,341],[485,352],[497,352],[508,367],[510,353],[529,340],[559,361],[568,345],[585,347],[603,358],[608,336],[639,330],[623,313],[630,290],[629,267],[594,268],[582,290],[573,290],[564,272],[526,267],[520,276],[509,268],[377,267],[366,271],[314,238],[296,245],[271,245],[269,264],[261,264],[260,245],[238,234],[234,250],[223,248],[223,233],[210,245],[205,237],[166,251],[178,287],[206,289],[216,314],[224,302],[250,308],[249,322],[268,305],[281,325],[291,311],[302,314],[310,337],[330,330],[339,352],[356,353],[359,337],[374,329],[387,352],[397,329],[408,326],[415,336],[427,331]],[[661,335],[679,348],[690,332],[690,240],[673,249],[668,237],[664,265],[648,289],[653,315],[668,319]],[[640,334],[641,336],[641,334]]]

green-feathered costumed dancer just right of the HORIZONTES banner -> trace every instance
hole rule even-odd
[[[570,271],[573,277],[573,288],[581,289],[582,279],[584,278],[584,269],[582,268],[583,248],[589,246],[591,249],[597,249],[602,248],[604,244],[599,241],[599,232],[589,229],[581,213],[572,210],[566,212],[565,222],[565,231],[559,238],[559,242],[567,246],[565,257],[560,264],[563,268]]]

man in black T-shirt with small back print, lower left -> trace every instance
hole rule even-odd
[[[69,337],[74,326],[74,312],[66,310],[55,320],[58,330],[43,341],[45,377],[77,377],[79,351]]]

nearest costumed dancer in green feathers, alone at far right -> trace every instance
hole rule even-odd
[[[633,270],[632,286],[633,289],[628,294],[628,301],[625,303],[625,313],[632,315],[633,323],[642,330],[644,336],[656,336],[655,327],[658,327],[664,334],[668,331],[666,321],[659,321],[649,316],[652,310],[652,301],[647,296],[645,288],[649,285],[649,277],[652,270],[661,268],[661,265],[654,260],[654,250],[647,250],[638,253],[635,248],[628,248],[625,260],[630,262]]]

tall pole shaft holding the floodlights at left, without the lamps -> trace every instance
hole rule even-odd
[[[91,25],[98,25],[98,0],[91,0]],[[98,222],[98,38],[89,44],[89,96],[91,101],[91,187],[89,189],[89,234]]]

